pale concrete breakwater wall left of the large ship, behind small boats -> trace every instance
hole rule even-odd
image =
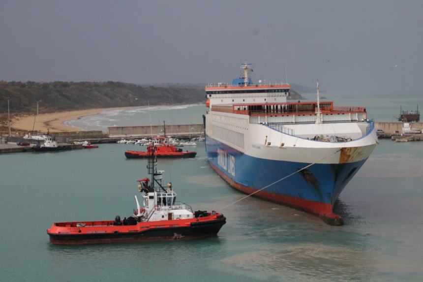
[[[147,126],[113,126],[107,127],[109,137],[125,137],[125,136],[156,136],[163,134],[163,125]],[[197,125],[166,125],[166,135],[181,136],[181,135],[200,135],[204,133],[204,126]]]

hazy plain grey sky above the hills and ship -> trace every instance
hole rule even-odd
[[[0,79],[423,90],[423,1],[2,0]],[[396,67],[395,67],[396,65]]]

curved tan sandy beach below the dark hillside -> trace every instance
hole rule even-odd
[[[39,114],[38,123],[35,123],[35,115],[27,115],[16,117],[12,119],[11,126],[17,130],[31,131],[34,127],[34,130],[39,130],[42,132],[50,131],[60,131],[60,132],[69,132],[69,131],[83,131],[84,129],[67,126],[63,123],[65,121],[76,120],[85,116],[96,115],[104,111],[112,110],[127,110],[127,109],[139,109],[137,107],[118,107],[118,108],[97,108],[97,109],[88,109],[88,110],[77,110],[77,111],[65,111],[65,112],[55,112],[49,114]]]

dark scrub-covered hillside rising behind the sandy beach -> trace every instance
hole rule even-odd
[[[190,104],[205,101],[204,87],[196,85],[142,86],[122,82],[4,82],[0,81],[0,112],[43,113],[90,108]]]

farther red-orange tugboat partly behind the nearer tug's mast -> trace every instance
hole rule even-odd
[[[169,138],[166,137],[155,137],[152,141],[154,143],[154,156],[155,157],[195,157],[197,152],[195,151],[183,151],[174,145],[169,144]],[[152,146],[147,148],[147,151],[125,151],[125,157],[127,158],[144,158],[149,157]]]

